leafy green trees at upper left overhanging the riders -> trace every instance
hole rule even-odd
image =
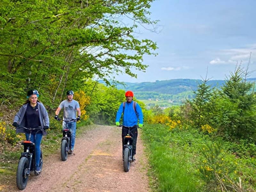
[[[156,44],[138,39],[153,0],[12,1],[0,4],[1,101],[36,88],[51,108],[87,79],[145,71],[143,55]],[[15,92],[16,94],[13,94]]]

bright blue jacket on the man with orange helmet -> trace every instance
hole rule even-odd
[[[123,107],[123,103],[122,103],[118,111],[116,112],[116,122],[119,122],[122,116],[122,113],[124,113],[124,116],[123,116],[124,126],[132,127],[134,125],[137,125],[138,119],[139,119],[139,123],[143,124],[143,114],[142,114],[140,105],[138,103],[136,104],[136,111],[137,111],[137,114],[133,109],[133,101],[131,103],[126,102],[125,107]]]

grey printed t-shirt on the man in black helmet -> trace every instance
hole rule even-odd
[[[68,100],[63,100],[60,103],[59,108],[63,108],[63,120],[76,119],[76,109],[80,108],[79,103],[76,100],[68,102]]]

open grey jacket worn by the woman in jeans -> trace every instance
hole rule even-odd
[[[20,110],[18,111],[18,113],[14,116],[14,120],[13,122],[17,122],[18,125],[20,126],[25,126],[25,119],[24,119],[24,115],[26,112],[28,104],[24,104],[21,106]],[[39,110],[39,119],[40,119],[40,124],[41,127],[44,128],[44,126],[49,126],[50,125],[50,121],[49,121],[49,117],[48,117],[48,113],[44,107],[44,105],[40,102],[37,102],[37,106],[38,106],[38,110]],[[46,135],[45,130],[42,130],[43,135]],[[16,128],[16,133],[25,133],[24,128]]]

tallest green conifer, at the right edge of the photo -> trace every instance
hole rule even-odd
[[[247,82],[247,76],[247,70],[244,71],[238,66],[222,87],[223,100],[229,99],[229,104],[225,106],[232,109],[228,113],[229,126],[225,126],[225,132],[228,132],[229,136],[233,138],[256,140],[256,97],[253,91],[254,83]]]

